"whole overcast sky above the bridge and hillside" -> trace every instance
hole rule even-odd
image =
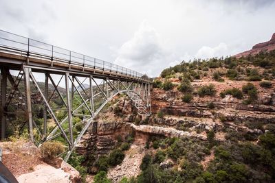
[[[149,76],[270,40],[272,0],[0,0],[0,29]]]

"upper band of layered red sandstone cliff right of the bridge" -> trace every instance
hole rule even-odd
[[[261,89],[259,88],[259,91]],[[256,104],[245,105],[239,99],[228,95],[225,99],[210,97],[207,99],[195,97],[191,103],[181,101],[181,93],[177,90],[165,92],[158,88],[152,91],[152,112],[160,109],[168,115],[177,117],[214,118],[225,117],[228,121],[263,121],[275,123],[275,93],[260,93],[261,97]],[[214,103],[214,109],[208,108],[208,103]],[[154,119],[153,119],[154,121]]]

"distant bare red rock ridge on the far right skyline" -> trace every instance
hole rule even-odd
[[[272,38],[267,42],[261,42],[252,47],[252,49],[248,51],[244,51],[242,53],[236,54],[234,57],[241,58],[242,56],[256,55],[261,51],[272,51],[275,50],[275,33],[272,35]]]

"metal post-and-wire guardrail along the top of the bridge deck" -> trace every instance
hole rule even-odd
[[[0,47],[6,50],[19,51],[27,56],[40,56],[41,58],[77,64],[83,67],[109,71],[110,73],[120,73],[125,76],[142,78],[142,73],[127,69],[111,62],[106,62],[81,53],[76,53],[68,49],[49,45],[39,40],[26,38],[10,32],[0,30]]]

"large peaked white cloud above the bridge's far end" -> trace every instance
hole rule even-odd
[[[157,31],[148,21],[143,21],[133,37],[118,49],[115,64],[153,76],[163,69],[162,62],[169,56]]]

